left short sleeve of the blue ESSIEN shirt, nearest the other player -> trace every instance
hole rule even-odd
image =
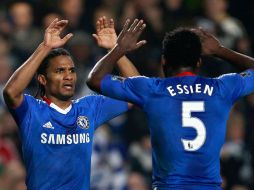
[[[140,107],[145,104],[148,94],[151,92],[152,79],[138,76],[121,78],[107,75],[101,83],[101,91],[104,95],[119,100],[132,102]]]

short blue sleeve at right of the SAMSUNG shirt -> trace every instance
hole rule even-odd
[[[103,123],[128,110],[128,103],[102,95],[97,96],[95,108],[95,129]]]

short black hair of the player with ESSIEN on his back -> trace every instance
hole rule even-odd
[[[165,35],[162,54],[173,69],[195,68],[201,57],[202,46],[199,36],[190,28],[178,28]],[[167,65],[166,65],[167,66]]]

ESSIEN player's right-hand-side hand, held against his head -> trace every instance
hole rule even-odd
[[[222,45],[215,36],[204,31],[201,28],[193,29],[193,31],[196,32],[200,37],[203,55],[217,55],[218,54]]]

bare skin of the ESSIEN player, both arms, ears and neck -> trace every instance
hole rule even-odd
[[[118,37],[117,45],[106,56],[99,60],[90,72],[87,84],[91,89],[101,93],[101,81],[105,75],[112,72],[115,62],[127,52],[135,50],[145,44],[145,41],[138,42],[138,38],[144,28],[145,24],[143,24],[142,20],[139,21],[136,19],[131,26],[129,26],[129,20],[126,21],[125,26]],[[227,49],[217,40],[217,38],[202,29],[193,29],[193,31],[196,32],[201,39],[203,55],[216,56],[227,60],[231,64],[241,67],[242,70],[254,69],[253,58]],[[200,60],[197,62],[196,68],[180,67],[173,72],[174,74],[183,71],[196,72],[201,64]],[[169,62],[162,57],[162,64],[169,65]],[[168,67],[167,70],[170,70],[170,67]],[[164,74],[167,76],[168,73],[166,72]]]

